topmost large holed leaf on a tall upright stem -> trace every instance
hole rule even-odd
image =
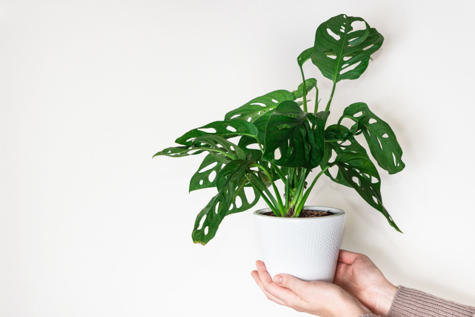
[[[354,22],[361,22],[364,27],[354,30]],[[317,28],[312,62],[334,83],[356,79],[366,70],[371,54],[381,47],[383,40],[365,20],[341,14]]]

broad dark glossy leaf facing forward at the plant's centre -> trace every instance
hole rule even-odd
[[[283,167],[318,166],[324,154],[323,131],[328,115],[304,112],[294,101],[280,103],[267,122],[263,159]],[[276,158],[276,150],[280,158]]]

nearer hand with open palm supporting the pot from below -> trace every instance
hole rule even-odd
[[[266,297],[277,304],[322,317],[358,317],[369,314],[356,298],[341,287],[327,282],[305,282],[292,275],[277,274],[274,281],[267,273],[264,262],[256,262],[251,272]]]

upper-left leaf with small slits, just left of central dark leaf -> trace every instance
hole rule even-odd
[[[277,105],[285,100],[294,100],[294,95],[286,90],[266,93],[226,113],[225,120],[244,120],[253,123],[266,112],[276,109]]]

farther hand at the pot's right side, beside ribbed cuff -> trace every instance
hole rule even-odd
[[[340,250],[336,265],[336,285],[346,290],[369,308],[373,314],[388,316],[398,289],[364,254]]]

